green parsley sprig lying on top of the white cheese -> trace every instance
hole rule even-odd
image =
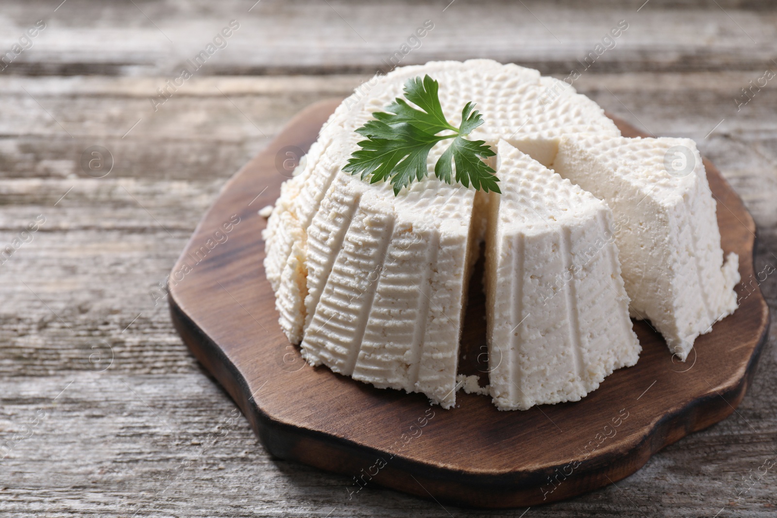
[[[367,140],[359,142],[361,149],[354,151],[343,171],[352,175],[361,173],[361,179],[371,176],[370,183],[389,179],[396,196],[413,179],[420,181],[427,176],[427,158],[434,144],[452,138],[451,145],[434,165],[437,178],[451,183],[452,161],[456,165],[458,183],[465,187],[472,183],[475,189],[483,189],[486,193],[490,190],[501,193],[496,171],[483,162],[483,158],[496,153],[486,141],[465,138],[483,124],[483,116],[473,110],[475,104],[469,102],[462,110],[461,125],[453,126],[442,113],[438,89],[439,84],[429,75],[423,80],[420,77],[408,79],[405,97],[420,110],[397,97],[394,103],[386,106],[385,112],[373,113],[375,120],[356,130]],[[438,135],[442,131],[454,133]]]

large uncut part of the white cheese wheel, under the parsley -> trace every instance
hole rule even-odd
[[[357,89],[284,184],[263,237],[287,337],[314,365],[419,391],[450,408],[472,250],[484,231],[477,210],[483,198],[436,179],[445,143],[430,152],[430,176],[399,196],[388,183],[342,172],[363,138],[354,130],[402,96],[408,78],[426,74],[439,82],[451,123],[460,123],[472,101],[486,120],[473,139],[494,146],[505,139],[545,165],[564,134],[620,133],[591,99],[538,71],[490,60],[431,62]],[[554,88],[563,92],[550,101]]]

